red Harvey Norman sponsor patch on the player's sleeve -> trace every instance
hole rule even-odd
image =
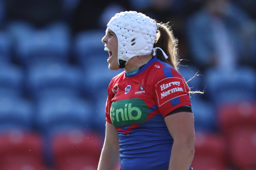
[[[183,79],[178,77],[169,77],[156,83],[156,96],[159,106],[175,97],[187,95],[185,87]]]

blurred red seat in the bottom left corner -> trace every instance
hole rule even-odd
[[[0,169],[14,170],[16,167],[16,170],[22,170],[21,167],[44,167],[42,142],[41,136],[34,132],[10,130],[1,133]]]

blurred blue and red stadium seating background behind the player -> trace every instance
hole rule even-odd
[[[255,0],[0,0],[0,170],[96,170],[107,22],[168,22],[192,91],[195,170],[256,170]],[[117,168],[118,169],[118,168]]]

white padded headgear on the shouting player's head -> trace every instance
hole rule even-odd
[[[125,11],[115,14],[107,24],[107,28],[117,35],[117,61],[125,64],[134,56],[152,53],[156,38],[156,23],[145,14],[136,11]]]

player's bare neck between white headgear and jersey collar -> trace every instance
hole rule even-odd
[[[145,65],[152,59],[152,55],[147,56],[134,56],[128,60],[127,64],[125,65],[124,69],[126,72],[130,72],[136,69],[139,69],[141,66]]]

